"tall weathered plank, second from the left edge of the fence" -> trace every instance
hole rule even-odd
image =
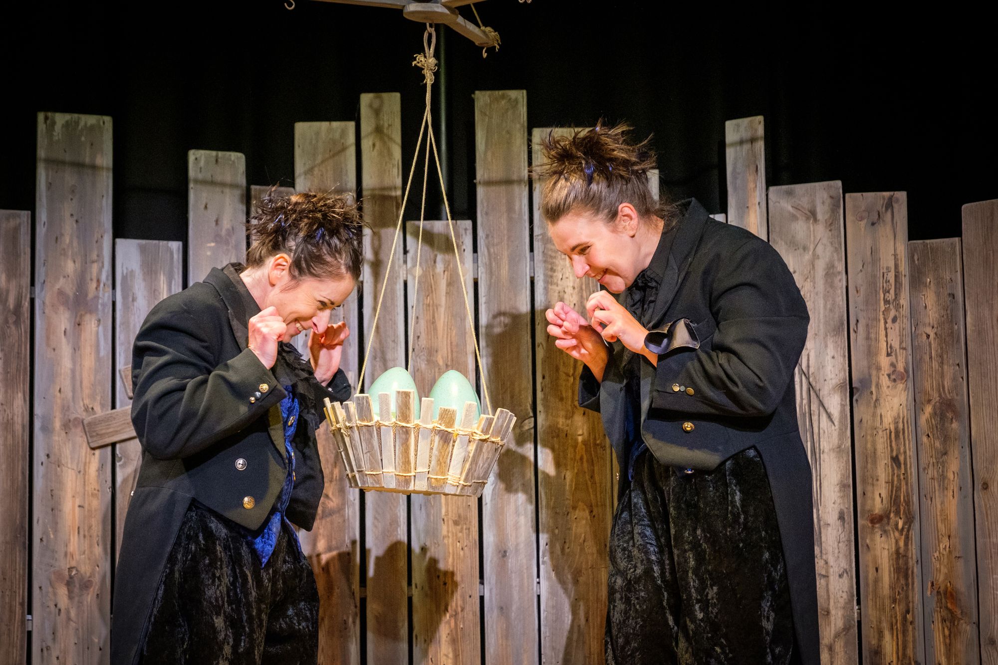
[[[35,199],[32,660],[108,663],[111,450],[82,419],[111,408],[111,118],[41,113]]]

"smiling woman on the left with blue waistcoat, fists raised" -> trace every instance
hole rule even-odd
[[[267,197],[247,266],[157,305],[133,355],[143,446],[114,598],[112,661],[315,663],[318,593],[291,523],[322,496],[322,399],[350,386],[344,324],[361,266],[345,196]],[[288,340],[309,334],[309,361]]]

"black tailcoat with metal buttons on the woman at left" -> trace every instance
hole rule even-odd
[[[115,578],[115,665],[131,665],[138,656],[191,501],[250,530],[270,513],[287,475],[282,384],[294,384],[305,421],[291,440],[295,482],[284,514],[306,530],[315,519],[323,488],[315,444],[321,400],[346,399],[350,386],[342,370],[329,387],[321,385],[287,344],[272,369],[263,366],[247,348],[249,321],[259,308],[239,268],[214,269],[204,282],[161,302],[135,340],[132,422],[143,457]]]

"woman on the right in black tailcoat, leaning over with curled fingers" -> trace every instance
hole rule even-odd
[[[629,130],[549,136],[535,167],[555,247],[604,288],[546,316],[620,462],[607,662],[817,665],[792,381],[806,307],[764,241],[695,200],[657,203]]]

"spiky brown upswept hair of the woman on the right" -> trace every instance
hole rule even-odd
[[[585,213],[606,222],[617,219],[622,203],[634,206],[648,221],[659,218],[672,224],[673,207],[656,201],[648,186],[648,173],[656,166],[652,137],[632,142],[627,123],[596,127],[557,136],[553,132],[541,144],[542,164],[534,165],[535,178],[544,178],[541,214],[557,223],[569,213]]]

